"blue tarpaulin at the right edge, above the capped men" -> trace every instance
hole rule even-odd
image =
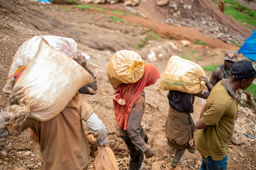
[[[238,53],[242,53],[243,56],[256,61],[256,30],[245,40]]]

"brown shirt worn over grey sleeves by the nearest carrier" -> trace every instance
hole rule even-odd
[[[88,140],[82,120],[93,112],[89,104],[77,93],[66,108],[54,118],[40,122],[27,118],[7,126],[10,135],[17,136],[30,127],[38,136],[42,154],[41,169],[84,169],[90,158]]]

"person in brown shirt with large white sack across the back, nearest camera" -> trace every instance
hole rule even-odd
[[[95,148],[107,141],[104,124],[77,92],[93,81],[76,61],[42,39],[0,112],[0,137],[17,136],[30,127],[39,138],[41,169],[87,169],[90,148],[82,120],[97,139]]]

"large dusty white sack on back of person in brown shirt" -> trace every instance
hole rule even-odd
[[[76,61],[40,38],[39,49],[15,86],[23,86],[25,97],[12,107],[13,115],[47,121],[59,114],[83,85],[93,77]]]

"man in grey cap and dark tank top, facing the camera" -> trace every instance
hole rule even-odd
[[[229,79],[231,75],[231,67],[237,61],[237,53],[235,51],[227,51],[224,55],[224,63],[219,65],[212,73],[210,83],[215,86],[216,83],[224,79]]]

